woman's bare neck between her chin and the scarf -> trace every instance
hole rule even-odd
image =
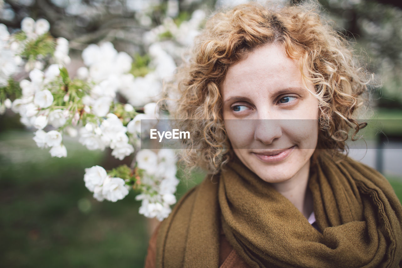
[[[271,185],[285,196],[308,219],[313,212],[313,198],[307,189],[310,161],[293,177],[286,181],[271,183]]]

